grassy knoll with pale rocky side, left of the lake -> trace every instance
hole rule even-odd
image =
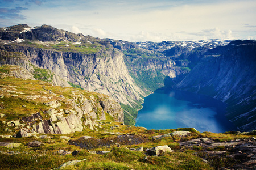
[[[97,130],[101,128],[98,121],[109,116],[113,121],[124,122],[121,106],[110,97],[10,76],[14,72],[20,75],[24,70],[13,65],[0,67],[0,120],[10,132],[20,129],[18,137],[36,133],[68,134],[86,128]]]

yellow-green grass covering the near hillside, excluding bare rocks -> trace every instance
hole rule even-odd
[[[8,72],[8,67],[1,67],[4,73]],[[26,96],[30,95],[42,95],[47,97],[52,97],[51,100],[60,100],[59,95],[63,95],[68,99],[72,98],[72,92],[83,93],[84,96],[95,95],[93,92],[86,92],[80,88],[67,88],[67,87],[56,87],[52,86],[51,83],[42,82],[38,80],[24,80],[13,78],[5,75],[1,75],[0,79],[1,95],[5,96],[0,99],[1,112],[6,114],[6,116],[0,118],[0,134],[10,135],[13,133],[4,131],[7,127],[2,121],[15,120],[21,116],[28,116],[35,113],[38,110],[49,109],[46,105],[42,103],[45,102],[44,99],[37,100],[26,100]],[[24,94],[14,95],[11,92],[6,92],[7,90],[13,90],[17,92],[23,92]],[[53,95],[52,93],[56,94]],[[9,94],[8,94],[9,93]],[[49,100],[49,99],[48,99]],[[48,101],[47,100],[47,101]],[[68,104],[63,101],[61,103],[61,108],[69,108]],[[118,122],[114,122],[113,118],[106,114],[106,120],[99,121],[98,124],[102,126],[98,131],[92,131],[84,129],[82,132],[77,132],[73,134],[68,134],[66,136],[71,137],[72,140],[76,140],[81,136],[89,135],[95,137],[96,139],[108,140],[116,138],[117,135],[111,135],[110,133],[123,133],[130,134],[135,137],[141,137],[144,142],[140,144],[129,145],[129,141],[123,142],[121,147],[117,147],[113,143],[110,146],[99,146],[92,143],[93,149],[90,151],[111,151],[105,155],[90,154],[88,150],[82,149],[75,145],[69,145],[67,139],[61,139],[61,135],[48,134],[51,138],[37,139],[36,137],[26,137],[26,138],[0,138],[0,142],[16,142],[22,143],[18,148],[5,148],[0,147],[0,169],[53,169],[59,167],[59,165],[67,162],[68,160],[75,159],[86,159],[85,162],[81,162],[75,166],[68,167],[66,169],[214,169],[217,166],[214,162],[205,163],[203,159],[200,158],[200,147],[184,147],[178,142],[188,141],[189,139],[208,137],[214,141],[231,141],[240,138],[251,138],[250,135],[232,135],[232,134],[214,134],[214,133],[199,133],[192,128],[183,129],[169,129],[169,130],[146,130],[144,128],[138,128],[135,126],[124,126]],[[118,125],[118,128],[113,130],[110,129],[111,126]],[[15,131],[14,128],[10,128]],[[188,130],[191,131],[191,135],[187,137],[167,137],[158,141],[152,140],[153,136],[163,135],[171,133],[176,130]],[[32,148],[25,146],[26,143],[38,140],[44,143],[43,146]],[[154,146],[168,145],[174,150],[171,154],[164,154],[163,156],[150,156],[148,159],[145,158],[144,152],[136,152],[127,150],[128,148],[139,148],[144,147],[151,148]],[[71,154],[60,156],[56,152],[59,150],[70,150],[80,151],[78,155],[72,156]],[[213,151],[223,150],[224,148],[214,148]],[[5,153],[13,151],[18,154],[6,155]],[[224,159],[222,160],[224,161]],[[232,160],[225,160],[226,164],[231,164]]]

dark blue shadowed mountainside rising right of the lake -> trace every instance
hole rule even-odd
[[[256,43],[232,41],[213,49],[176,86],[180,90],[212,96],[228,104],[226,117],[242,131],[256,127]],[[219,52],[219,53],[216,53]]]

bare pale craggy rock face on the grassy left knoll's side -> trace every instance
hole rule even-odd
[[[73,109],[59,109],[58,101],[44,103],[49,109],[44,114],[50,118],[43,119],[41,114],[34,113],[29,117],[23,117],[22,121],[30,128],[20,129],[17,137],[30,137],[39,134],[69,134],[82,131],[84,125],[91,130],[101,128],[96,120],[105,120],[105,113],[110,114],[117,122],[123,123],[123,110],[113,99],[101,96],[96,99],[93,95],[89,99],[82,94],[74,95],[73,99],[67,99]],[[14,122],[15,124],[15,122]]]

